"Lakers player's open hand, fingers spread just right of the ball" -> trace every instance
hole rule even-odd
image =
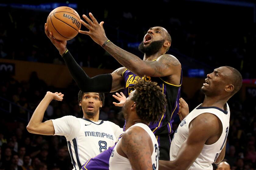
[[[106,34],[105,34],[105,30],[103,28],[104,22],[101,21],[100,23],[98,23],[98,21],[94,18],[94,16],[92,15],[91,12],[89,13],[89,16],[91,17],[91,19],[89,19],[86,15],[83,15],[83,18],[85,19],[85,21],[88,24],[86,22],[84,22],[82,19],[80,20],[80,22],[87,29],[89,29],[89,31],[79,30],[79,32],[90,36],[91,39],[94,40],[94,42],[96,42],[97,44],[102,46],[104,44],[104,42],[106,42],[108,40],[108,38],[106,37]]]

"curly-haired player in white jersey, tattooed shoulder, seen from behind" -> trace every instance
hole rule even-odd
[[[165,95],[156,82],[140,80],[134,87],[123,105],[126,131],[112,151],[109,170],[158,169],[158,142],[148,125],[165,112]]]

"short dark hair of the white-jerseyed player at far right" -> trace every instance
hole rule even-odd
[[[230,66],[225,66],[225,67],[227,67],[229,70],[232,71],[232,74],[229,77],[229,80],[231,80],[231,83],[234,85],[234,91],[232,94],[235,94],[242,87],[242,83],[243,83],[242,75],[238,70],[236,70],[233,67],[230,67]]]

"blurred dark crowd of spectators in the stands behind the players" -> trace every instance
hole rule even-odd
[[[112,42],[136,55],[143,54],[138,52],[137,47],[133,48],[132,44],[140,43],[150,27],[163,26],[172,36],[169,53],[176,54],[178,59],[180,56],[187,57],[187,63],[181,63],[186,68],[193,68],[193,63],[190,62],[190,58],[193,58],[205,67],[229,65],[240,70],[243,78],[256,78],[253,62],[256,29],[255,23],[248,17],[251,14],[249,9],[220,7],[216,14],[208,9],[207,4],[200,10],[194,10],[193,7],[198,4],[187,2],[190,4],[183,6],[176,2],[175,5],[182,6],[187,12],[183,13],[168,0],[159,3],[162,8],[155,9],[149,16],[128,7],[99,7],[100,10],[92,9],[89,12],[105,22],[106,35]],[[82,4],[78,6],[76,11],[80,16],[87,14],[88,9],[82,8]],[[8,6],[0,9],[2,18],[5,18],[0,20],[0,58],[64,64],[57,49],[44,35],[44,23],[49,12],[13,9]],[[163,15],[167,11],[169,15]],[[224,15],[225,12],[227,15]],[[80,66],[108,69],[120,66],[86,35],[79,34],[67,42],[67,47]],[[76,83],[73,81],[65,89],[47,86],[36,72],[31,73],[28,81],[21,82],[6,73],[0,73],[0,77],[0,169],[72,169],[66,138],[30,134],[26,126],[47,91],[62,92],[65,97],[62,102],[51,102],[44,120],[66,115],[82,117]],[[115,99],[111,94],[105,95],[105,106],[100,110],[100,119],[112,121],[122,127],[124,120],[120,108],[112,104]],[[182,91],[181,97],[192,110],[203,101],[204,95],[198,91],[194,97],[188,98]],[[256,98],[251,96],[242,101],[235,95],[228,103],[231,117],[224,160],[233,170],[256,169]],[[179,117],[176,117],[174,131],[179,122]],[[214,165],[214,168],[217,166]]]

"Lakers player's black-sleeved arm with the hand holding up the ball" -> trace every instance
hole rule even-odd
[[[67,41],[59,41],[54,39],[52,33],[48,32],[47,25],[44,26],[46,36],[51,40],[52,44],[58,49],[59,54],[64,59],[69,72],[73,79],[76,81],[78,87],[83,92],[99,92],[108,93],[120,90],[123,88],[122,73],[125,70],[121,67],[114,71],[112,74],[101,74],[90,78],[84,70],[76,63],[71,53],[67,50]]]

